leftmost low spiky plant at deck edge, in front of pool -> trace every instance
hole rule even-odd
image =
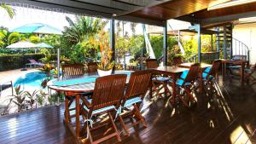
[[[18,111],[25,109],[26,92],[20,90],[20,85],[15,87],[15,95],[11,95],[11,101],[18,107]]]

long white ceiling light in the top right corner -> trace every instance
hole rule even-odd
[[[214,10],[214,9],[224,9],[224,8],[228,8],[228,7],[234,7],[237,5],[254,3],[254,2],[256,2],[256,0],[233,0],[231,2],[214,5],[212,7],[209,7],[207,10],[210,11],[210,10]]]

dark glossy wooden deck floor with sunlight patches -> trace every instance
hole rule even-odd
[[[256,143],[256,85],[241,88],[236,80],[219,85],[221,95],[196,95],[197,105],[189,109],[166,105],[166,99],[146,100],[148,128],[131,127],[131,136],[122,135],[121,143]],[[0,143],[75,143],[62,119],[63,107],[0,118]]]

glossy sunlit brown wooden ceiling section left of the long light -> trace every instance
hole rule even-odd
[[[151,20],[169,20],[228,1],[230,0],[172,0],[171,2],[138,10],[129,15]]]

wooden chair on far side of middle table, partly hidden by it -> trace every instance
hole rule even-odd
[[[148,59],[146,60],[147,68],[157,68],[158,63],[156,59]],[[168,93],[171,95],[171,91],[168,89],[168,81],[170,78],[162,77],[162,76],[152,76],[152,92],[155,93],[157,98],[162,98],[163,94],[167,95]],[[160,92],[160,90],[164,89],[164,92]]]

